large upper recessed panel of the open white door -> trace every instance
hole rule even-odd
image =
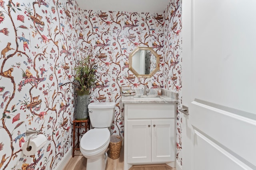
[[[194,0],[194,98],[256,114],[256,1]]]

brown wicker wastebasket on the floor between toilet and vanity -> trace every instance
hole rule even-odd
[[[112,135],[109,143],[109,157],[117,159],[120,156],[122,148],[122,137],[120,135]]]

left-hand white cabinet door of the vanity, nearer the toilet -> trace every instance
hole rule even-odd
[[[127,162],[151,162],[151,120],[127,121]]]

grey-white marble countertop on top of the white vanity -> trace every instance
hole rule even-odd
[[[172,93],[172,92],[171,92]],[[133,104],[142,104],[142,103],[170,103],[170,104],[176,104],[178,100],[176,97],[176,93],[174,94],[169,94],[164,91],[162,91],[162,96],[158,96],[157,93],[154,92],[154,90],[151,90],[148,94],[148,98],[143,98],[140,97],[143,95],[143,92],[140,92],[140,90],[136,90],[136,95],[135,96],[122,96],[120,102],[122,104],[128,104],[128,103],[133,103]],[[152,97],[151,97],[152,96]]]

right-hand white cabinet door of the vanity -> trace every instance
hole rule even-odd
[[[152,120],[152,162],[175,161],[174,119]]]

